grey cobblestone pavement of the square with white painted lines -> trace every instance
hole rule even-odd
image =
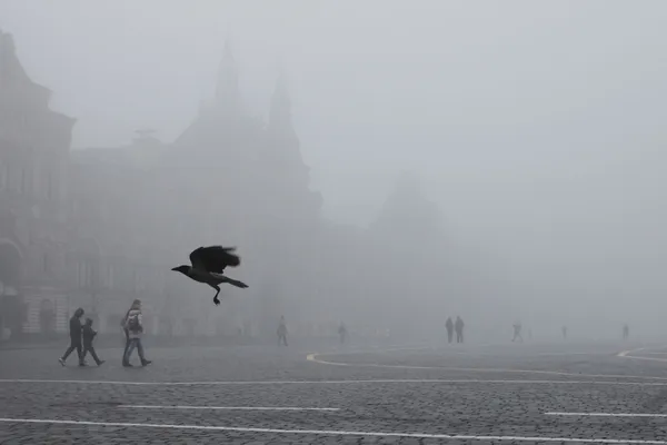
[[[0,352],[0,444],[667,445],[664,347],[147,350],[132,369]]]

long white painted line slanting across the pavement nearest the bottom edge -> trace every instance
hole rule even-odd
[[[86,421],[56,421],[41,418],[0,418],[3,423],[13,424],[48,424],[48,425],[86,425],[110,426],[120,428],[163,428],[163,429],[193,429],[237,433],[266,433],[266,434],[306,434],[320,436],[360,436],[360,437],[410,437],[436,438],[446,441],[507,441],[507,442],[576,442],[584,444],[641,444],[667,445],[667,441],[616,439],[616,438],[577,438],[577,437],[531,437],[531,436],[481,436],[462,434],[428,434],[428,433],[380,433],[354,432],[332,429],[277,429],[277,428],[249,428],[237,426],[207,426],[207,425],[171,425],[171,424],[136,424],[119,422],[86,422]]]

